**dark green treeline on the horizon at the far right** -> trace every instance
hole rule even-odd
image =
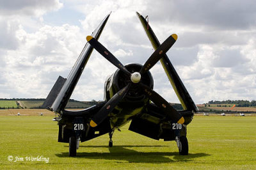
[[[251,102],[248,100],[211,100],[208,104],[236,104],[236,107],[252,107],[256,106],[256,100],[252,100]]]

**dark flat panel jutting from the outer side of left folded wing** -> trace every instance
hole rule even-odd
[[[42,105],[42,108],[48,109],[53,104],[55,98],[60,93],[61,88],[63,87],[66,79],[59,76],[57,81],[55,82],[54,86],[52,87],[49,95],[47,96],[46,100],[44,101],[44,104]]]

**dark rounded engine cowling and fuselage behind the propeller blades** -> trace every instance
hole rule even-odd
[[[125,68],[129,72],[140,72],[142,65],[140,64],[129,64],[125,65]],[[125,74],[119,69],[115,73],[107,77],[104,87],[104,99],[109,100],[112,98],[117,91],[124,88],[128,83],[131,82],[131,76]],[[141,81],[150,88],[153,88],[154,81],[150,72],[146,72],[141,75]],[[110,123],[112,128],[119,128],[125,125],[132,116],[140,114],[143,111],[145,105],[149,102],[148,98],[143,93],[140,86],[137,83],[133,83],[131,88],[127,92],[127,95],[122,99],[120,104],[118,104],[115,109],[111,112]]]

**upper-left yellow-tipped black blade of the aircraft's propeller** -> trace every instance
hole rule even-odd
[[[109,52],[108,49],[106,49],[100,42],[98,42],[95,38],[92,36],[86,36],[86,40],[92,47],[97,50],[104,58],[108,59],[110,63],[115,65],[117,68],[122,70],[125,73],[131,74],[124,65],[113,55],[111,52]]]

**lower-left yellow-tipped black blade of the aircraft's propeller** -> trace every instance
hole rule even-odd
[[[120,89],[110,100],[97,112],[92,120],[90,121],[91,127],[96,127],[99,125],[105,118],[108,117],[108,114],[113,111],[116,105],[124,98],[127,91],[130,89],[131,83],[127,84],[124,88]]]

